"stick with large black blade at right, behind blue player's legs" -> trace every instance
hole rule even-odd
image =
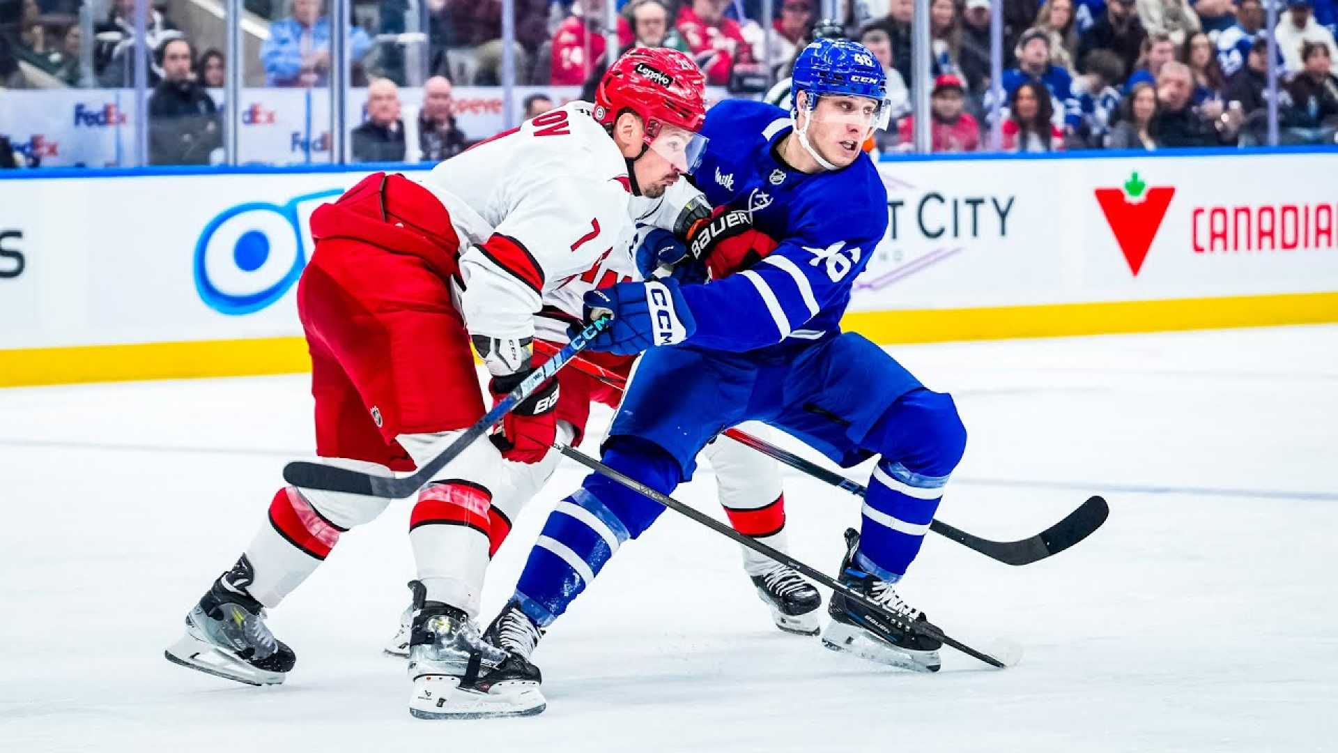
[[[538,347],[555,350],[547,343],[541,343]],[[619,374],[609,371],[607,368],[583,358],[577,358],[571,367],[582,374],[599,379],[610,387],[625,389],[628,383]],[[858,497],[864,497],[868,493],[868,489],[858,481],[799,457],[795,453],[783,450],[776,445],[753,437],[747,431],[731,427],[725,429],[723,434],[736,442],[748,445],[764,456],[783,462],[800,473],[807,473],[819,481],[826,481],[832,486],[839,486]],[[979,536],[967,533],[961,528],[949,525],[941,520],[930,521],[930,531],[938,533],[939,536],[946,536],[969,549],[975,549],[993,560],[1010,565],[1025,565],[1054,556],[1086,539],[1096,532],[1097,528],[1101,528],[1101,524],[1105,523],[1105,519],[1109,515],[1111,508],[1107,505],[1105,500],[1100,496],[1092,496],[1088,497],[1085,502],[1074,508],[1073,512],[1064,516],[1064,520],[1034,536],[1018,539],[1017,541],[991,541],[989,539],[981,539]]]

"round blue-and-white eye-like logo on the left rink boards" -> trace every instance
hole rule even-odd
[[[306,265],[306,221],[317,206],[344,193],[302,194],[284,205],[253,201],[225,209],[195,241],[195,292],[219,314],[241,316],[284,297]]]

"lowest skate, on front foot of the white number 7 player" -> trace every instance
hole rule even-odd
[[[534,665],[484,640],[463,610],[427,602],[427,590],[417,581],[411,586],[411,714],[420,720],[476,720],[527,717],[545,709]]]

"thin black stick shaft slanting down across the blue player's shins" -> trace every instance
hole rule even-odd
[[[831,588],[832,591],[840,592],[843,596],[846,596],[851,602],[855,602],[859,606],[864,607],[866,610],[870,610],[870,611],[878,614],[879,616],[882,616],[886,620],[891,620],[892,623],[896,623],[896,624],[910,624],[911,630],[914,630],[915,632],[918,632],[918,634],[921,634],[921,635],[923,635],[926,638],[933,638],[935,640],[941,640],[946,646],[951,646],[953,648],[957,648],[958,651],[961,651],[961,653],[963,653],[963,654],[966,654],[969,657],[977,658],[977,659],[985,662],[986,665],[990,665],[991,667],[1005,669],[1005,667],[1009,666],[1009,665],[1001,662],[999,659],[995,659],[994,657],[991,657],[989,654],[985,654],[982,651],[977,651],[975,648],[971,648],[970,646],[962,643],[961,640],[955,640],[955,639],[950,638],[938,626],[935,626],[935,624],[933,624],[930,622],[907,620],[903,615],[892,612],[892,611],[887,610],[886,607],[882,607],[882,606],[871,602],[870,599],[866,599],[863,595],[860,595],[854,588],[846,586],[844,583],[840,583],[839,580],[828,576],[827,573],[824,573],[824,572],[822,572],[819,569],[815,569],[812,567],[808,567],[807,564],[796,560],[795,557],[792,557],[792,556],[789,556],[789,555],[787,555],[784,552],[772,549],[771,547],[763,544],[761,541],[757,541],[756,539],[753,539],[751,536],[744,536],[743,533],[739,533],[733,528],[731,528],[731,527],[728,527],[728,525],[717,521],[716,519],[713,519],[713,517],[710,517],[710,516],[708,516],[708,515],[705,515],[705,513],[702,513],[702,512],[700,512],[697,509],[693,509],[693,508],[690,508],[690,506],[688,506],[688,505],[685,505],[682,502],[680,502],[678,500],[674,500],[673,497],[670,497],[668,494],[662,494],[662,493],[657,492],[656,489],[652,489],[650,486],[646,486],[645,484],[637,481],[636,478],[632,478],[630,476],[618,473],[617,470],[614,470],[614,469],[609,468],[607,465],[605,465],[605,464],[594,460],[593,457],[582,453],[581,450],[574,450],[574,449],[571,449],[571,448],[569,448],[566,445],[562,445],[562,443],[554,443],[553,448],[557,449],[559,453],[567,456],[569,458],[571,458],[571,460],[579,462],[581,465],[589,468],[590,470],[594,470],[595,473],[606,476],[610,480],[617,481],[618,484],[626,486],[628,489],[632,489],[633,492],[638,492],[641,494],[645,494],[646,497],[650,497],[652,500],[654,500],[654,501],[660,502],[661,505],[664,505],[664,506],[674,510],[676,513],[688,516],[692,520],[694,520],[694,521],[705,525],[706,528],[714,531],[716,533],[720,533],[721,536],[732,539],[732,540],[743,544],[744,547],[748,547],[749,549],[752,549],[752,551],[755,551],[755,552],[757,552],[760,555],[771,557],[772,560],[775,560],[775,561],[777,561],[777,563],[780,563],[783,565],[787,565],[789,568],[793,568],[793,569],[796,569],[796,571],[807,575],[808,577],[816,580],[818,583],[822,583],[823,586]]]

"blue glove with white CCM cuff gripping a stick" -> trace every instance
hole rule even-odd
[[[618,283],[585,295],[585,320],[611,316],[613,323],[590,343],[590,350],[636,355],[656,346],[690,338],[697,322],[673,279]]]

